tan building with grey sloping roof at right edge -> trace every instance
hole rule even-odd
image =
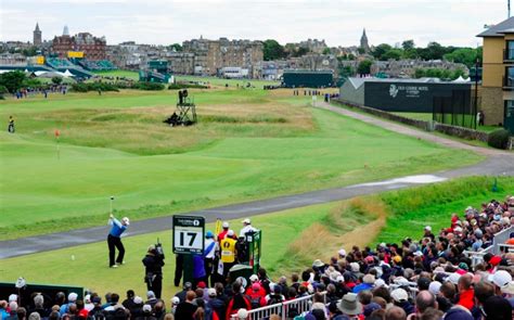
[[[514,17],[479,34],[484,39],[481,110],[486,125],[514,132]]]

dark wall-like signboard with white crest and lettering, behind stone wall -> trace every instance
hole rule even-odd
[[[434,97],[452,97],[453,90],[471,94],[470,84],[377,80],[364,86],[364,105],[387,112],[432,113]]]

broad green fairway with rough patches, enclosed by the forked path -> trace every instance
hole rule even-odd
[[[0,239],[347,185],[481,157],[308,107],[291,90],[191,90],[200,124],[170,128],[170,92],[0,102]],[[54,130],[61,130],[59,145]],[[59,149],[59,157],[57,157]]]

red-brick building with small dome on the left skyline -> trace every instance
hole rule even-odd
[[[68,57],[69,51],[81,51],[87,60],[104,60],[106,41],[105,37],[97,38],[89,33],[79,33],[72,37],[65,26],[63,35],[53,38],[51,51],[61,59]]]

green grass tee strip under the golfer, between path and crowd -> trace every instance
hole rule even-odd
[[[253,225],[264,232],[262,265],[275,267],[283,258],[287,243],[297,238],[304,229],[327,217],[331,210],[337,208],[338,204],[332,203],[253,218]],[[347,219],[350,220],[351,218]],[[231,226],[239,232],[241,220],[231,221]],[[213,228],[213,223],[209,223],[206,230],[214,230]],[[105,232],[107,234],[107,228]],[[23,276],[27,283],[80,285],[102,295],[106,292],[124,295],[128,289],[133,289],[138,295],[144,296],[146,286],[143,283],[144,269],[141,259],[147,246],[154,244],[157,236],[167,256],[163,293],[168,303],[178,291],[172,286],[175,256],[171,254],[171,231],[125,238],[127,264],[118,269],[107,267],[107,244],[100,242],[1,260],[0,281],[15,282]]]

